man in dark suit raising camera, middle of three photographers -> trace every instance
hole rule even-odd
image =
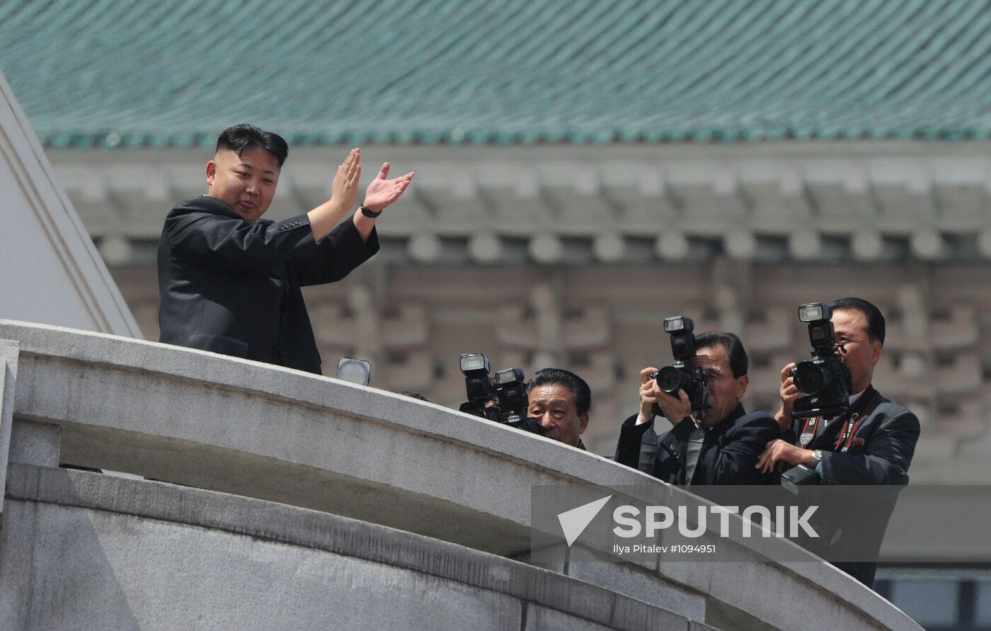
[[[640,413],[623,423],[616,461],[686,486],[764,481],[765,476],[754,466],[764,445],[777,438],[779,430],[770,415],[746,414],[739,402],[749,380],[743,343],[732,333],[703,333],[695,344],[692,362],[704,369],[709,387],[702,418],[692,416],[684,390],[679,390],[677,397],[662,391],[657,380],[649,377],[658,369],[644,368],[640,371]],[[648,432],[653,432],[655,404],[671,428],[657,439],[656,451],[650,457]],[[646,461],[641,458],[645,435]]]

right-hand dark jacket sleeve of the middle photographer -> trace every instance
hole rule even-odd
[[[760,470],[755,468],[768,442],[778,438],[781,429],[773,417],[764,412],[751,412],[739,419],[726,433],[725,443],[719,449],[706,453],[710,462],[706,470],[711,472],[708,484],[755,484],[761,481]]]

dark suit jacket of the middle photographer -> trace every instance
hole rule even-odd
[[[640,443],[653,425],[636,424],[636,415],[626,419],[619,432],[616,461],[638,468]],[[685,462],[689,437],[695,430],[692,419],[685,417],[658,438],[654,464],[649,472],[671,484],[685,484]],[[780,430],[773,417],[765,412],[745,414],[736,408],[718,425],[706,432],[692,484],[759,484],[767,476],[754,468],[768,442],[778,438]]]

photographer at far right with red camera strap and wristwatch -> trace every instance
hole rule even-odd
[[[781,409],[775,415],[785,436],[768,443],[757,467],[766,472],[777,462],[805,465],[819,474],[822,484],[908,484],[919,419],[871,385],[884,346],[884,315],[859,298],[844,298],[830,307],[836,354],[850,371],[849,412],[832,419],[793,420],[802,395],[790,374],[795,364],[788,364],[781,371]],[[835,566],[868,586],[874,583],[874,563]]]

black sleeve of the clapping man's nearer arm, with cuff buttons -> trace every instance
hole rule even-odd
[[[177,211],[177,212],[176,212]],[[163,237],[175,256],[208,269],[268,272],[316,249],[305,214],[278,223],[176,207]]]

